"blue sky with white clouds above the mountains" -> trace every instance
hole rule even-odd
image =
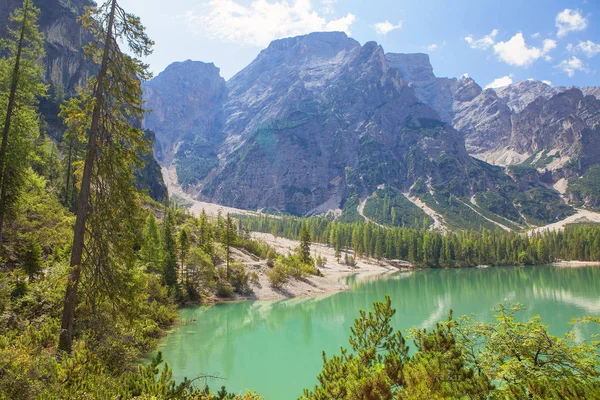
[[[600,0],[121,0],[155,41],[157,74],[212,62],[225,79],[274,39],[344,31],[390,53],[427,53],[438,77],[600,86]]]

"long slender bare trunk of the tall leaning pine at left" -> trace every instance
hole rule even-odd
[[[81,277],[81,262],[83,260],[83,250],[85,245],[85,225],[88,216],[88,206],[90,199],[90,188],[92,180],[92,170],[97,156],[97,140],[100,125],[100,112],[104,101],[104,79],[108,70],[108,59],[110,55],[110,46],[113,40],[113,25],[115,20],[115,10],[117,0],[112,0],[108,27],[106,32],[106,41],[104,43],[104,53],[102,55],[102,65],[98,73],[94,98],[96,104],[92,113],[92,123],[88,137],[87,151],[85,156],[85,165],[83,167],[83,177],[81,179],[81,191],[79,193],[79,202],[77,205],[77,217],[75,219],[75,228],[73,230],[73,249],[71,252],[71,274],[67,283],[65,301],[60,329],[60,338],[58,348],[60,350],[71,352],[73,341],[73,325],[75,322],[75,307],[77,305],[77,286]]]

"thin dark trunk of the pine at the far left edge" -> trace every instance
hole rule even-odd
[[[12,81],[10,83],[10,94],[8,96],[8,107],[6,108],[6,117],[4,119],[4,127],[2,129],[2,145],[0,146],[0,246],[2,246],[4,220],[5,220],[5,208],[6,208],[6,179],[5,179],[5,167],[6,167],[6,152],[8,151],[8,133],[10,131],[10,122],[12,113],[15,108],[17,86],[19,85],[19,69],[21,67],[21,55],[23,53],[23,41],[25,40],[25,23],[28,18],[29,7],[31,6],[30,1],[25,1],[23,9],[23,24],[21,25],[21,32],[19,34],[19,43],[17,45],[17,57],[15,59],[15,66],[13,68]]]

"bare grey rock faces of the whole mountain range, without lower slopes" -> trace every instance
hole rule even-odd
[[[228,82],[212,64],[170,66],[145,85],[154,110],[146,126],[188,192],[304,215],[382,184],[409,191],[421,181],[471,196],[510,179],[478,169],[469,154],[510,165],[553,151],[559,160],[548,166],[562,168],[588,140],[567,132],[563,111],[581,114],[578,131],[595,129],[592,111],[553,100],[566,92],[530,81],[484,90],[466,76],[436,77],[426,54],[312,33],[272,42]],[[592,110],[594,101],[579,104]]]

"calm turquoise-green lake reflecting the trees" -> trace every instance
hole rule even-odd
[[[395,327],[402,330],[430,328],[450,309],[455,317],[475,313],[489,321],[490,309],[504,299],[523,303],[523,318],[541,315],[556,335],[569,329],[573,317],[600,315],[599,267],[422,270],[367,282],[349,277],[348,282],[351,290],[327,297],[182,309],[186,323],[166,336],[157,351],[163,352],[178,381],[200,374],[219,376],[223,379],[207,383],[285,400],[314,386],[322,351],[331,356],[340,346],[349,347],[350,327],[359,310],[371,309],[386,294],[397,310]]]

